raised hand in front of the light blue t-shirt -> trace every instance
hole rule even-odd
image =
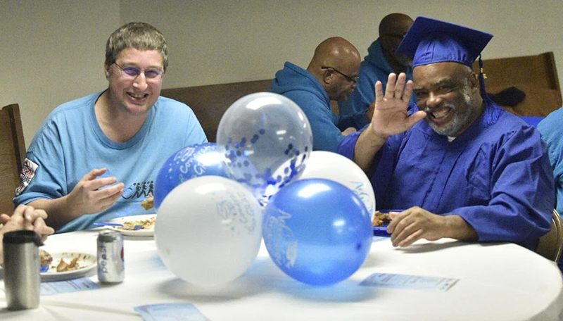
[[[72,189],[70,194],[65,196],[66,209],[77,217],[83,214],[99,213],[108,209],[123,194],[125,184],[122,182],[115,184],[117,178],[103,177],[106,168],[91,170]],[[113,186],[109,186],[115,184]]]

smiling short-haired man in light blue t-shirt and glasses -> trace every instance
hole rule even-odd
[[[155,27],[115,30],[106,43],[108,89],[51,112],[27,150],[14,203],[44,209],[57,232],[142,214],[164,161],[207,141],[188,106],[160,96],[167,65]]]

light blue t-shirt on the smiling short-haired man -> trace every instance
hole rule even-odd
[[[162,96],[134,137],[124,143],[112,141],[96,120],[94,104],[101,94],[58,106],[27,150],[16,205],[68,195],[94,168],[108,168],[102,177],[114,176],[125,184],[125,192],[108,210],[82,215],[57,232],[88,229],[94,227],[94,222],[127,215],[154,213],[144,210],[140,203],[152,194],[165,160],[185,146],[207,141],[191,108]]]

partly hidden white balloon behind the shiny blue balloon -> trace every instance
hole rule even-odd
[[[360,166],[349,158],[330,151],[312,151],[299,180],[305,178],[324,178],[348,187],[360,197],[373,220],[375,195],[372,183]]]

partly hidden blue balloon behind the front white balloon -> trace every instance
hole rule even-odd
[[[200,176],[227,177],[217,151],[217,144],[193,144],[180,149],[160,168],[154,184],[154,206],[160,207],[164,198],[180,183]]]

